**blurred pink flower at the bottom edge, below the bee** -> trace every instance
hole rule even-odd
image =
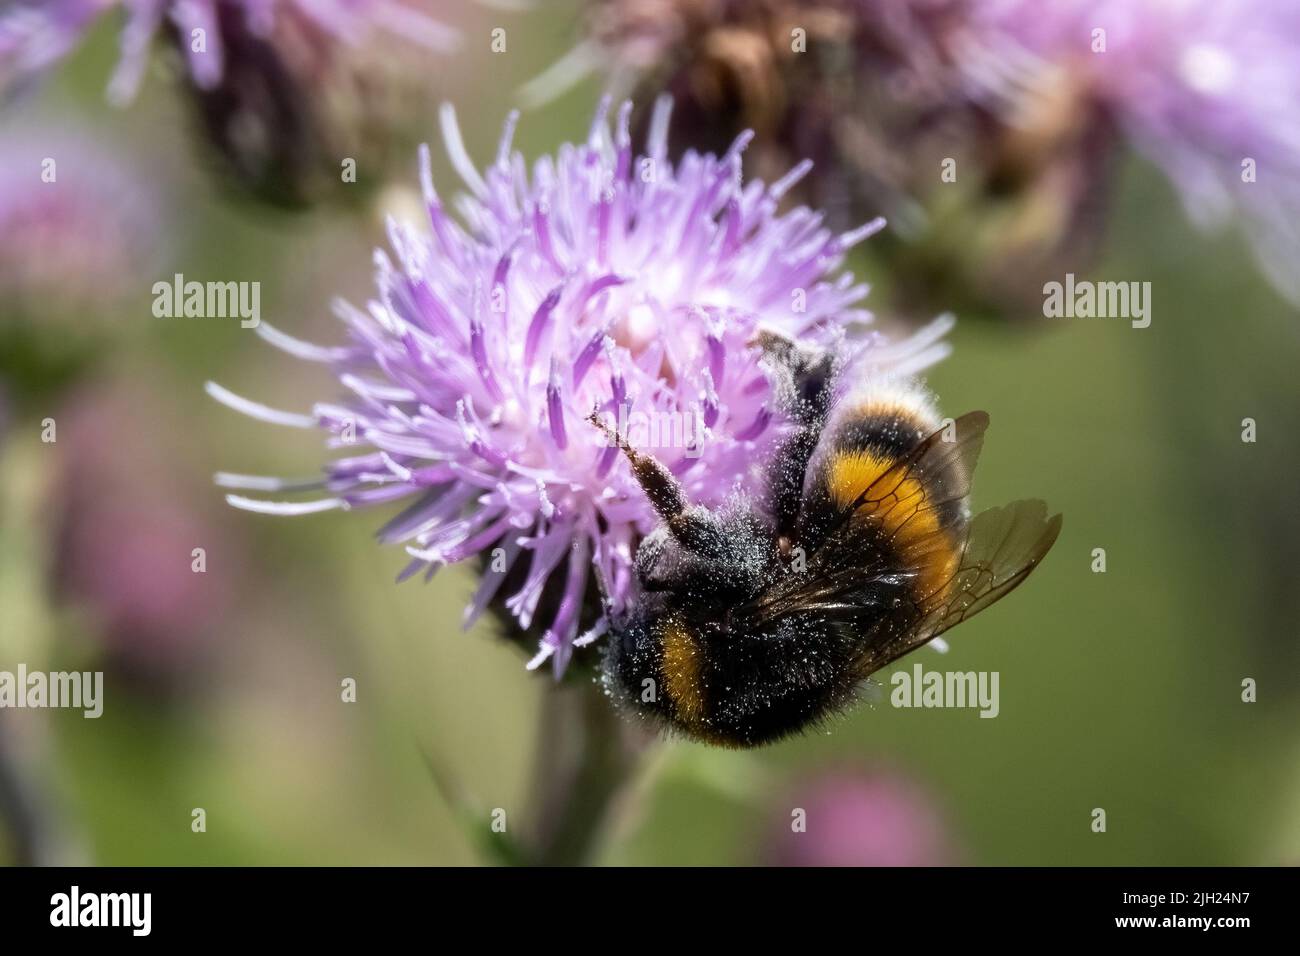
[[[802,810],[802,831],[793,816]],[[770,823],[764,861],[777,866],[948,866],[957,853],[928,790],[897,773],[815,774]]]

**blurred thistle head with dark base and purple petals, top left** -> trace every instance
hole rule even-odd
[[[298,206],[344,182],[342,163],[381,166],[413,109],[416,55],[446,52],[454,30],[426,0],[49,0],[0,14],[0,88],[30,81],[121,7],[122,57],[109,99],[131,100],[162,34],[235,182]],[[402,43],[389,47],[393,39]],[[359,176],[358,181],[364,181]]]

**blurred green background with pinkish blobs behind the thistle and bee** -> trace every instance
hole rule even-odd
[[[464,49],[430,66],[412,142],[437,142],[450,99],[489,160],[515,91],[572,47],[578,16],[569,1],[456,14]],[[490,52],[498,21],[520,38],[504,56]],[[88,202],[109,222],[53,246],[35,226],[0,237],[0,670],[103,670],[107,685],[99,719],[0,711],[18,808],[0,860],[489,862],[486,814],[529,812],[549,671],[525,672],[490,623],[460,631],[467,568],[394,584],[406,557],[373,542],[385,515],[229,510],[214,472],[311,475],[321,441],[244,419],[203,382],[294,410],[335,385],[237,321],[151,312],[152,284],[176,272],[260,281],[264,320],[341,341],[329,303],[370,294],[378,211],[417,195],[413,151],[354,207],[266,209],[208,174],[165,59],[134,105],[105,105],[117,42],[101,23],[0,114],[0,189],[31,189],[9,157],[66,143],[60,176],[92,166]],[[581,138],[599,90],[588,79],[526,112],[519,147]],[[450,182],[437,148],[434,163]],[[1149,281],[1150,326],[962,312],[928,377],[946,412],[992,415],[976,507],[1043,497],[1065,514],[1014,600],[952,635],[945,658],[901,665],[1000,671],[997,719],[894,709],[885,672],[880,700],[826,734],[751,753],[670,743],[598,862],[1300,860],[1300,316],[1236,233],[1195,232],[1143,160],[1126,155],[1114,190],[1088,274]],[[850,265],[888,328],[871,246]],[[1242,700],[1247,678],[1257,702]],[[794,808],[836,821],[836,839],[810,822],[792,842]]]

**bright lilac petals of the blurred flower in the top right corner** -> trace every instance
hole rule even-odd
[[[1166,170],[1195,222],[1245,212],[1261,265],[1300,300],[1300,4],[980,0],[972,20],[978,91],[1072,86]]]

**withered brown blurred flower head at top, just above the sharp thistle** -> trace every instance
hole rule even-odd
[[[524,90],[549,99],[593,69],[675,98],[672,138],[722,148],[757,133],[759,176],[816,163],[802,195],[848,221],[906,207],[918,144],[974,135],[948,56],[966,0],[592,0],[589,38]],[[961,126],[961,129],[954,129]],[[681,148],[681,147],[679,147]]]

